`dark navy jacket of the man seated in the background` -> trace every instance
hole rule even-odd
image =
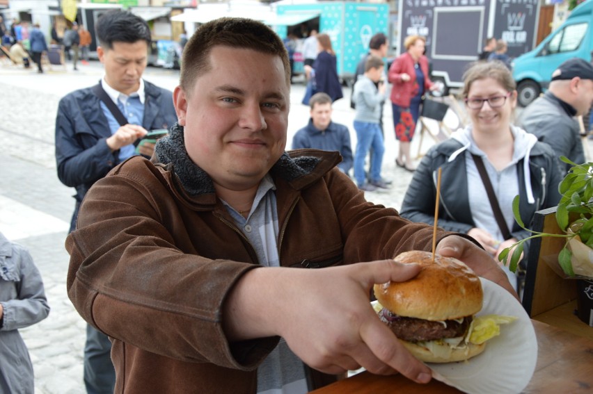
[[[321,149],[322,151],[339,151],[342,163],[338,164],[340,170],[348,174],[352,168],[352,146],[350,144],[350,131],[339,123],[329,122],[325,130],[319,130],[313,125],[313,120],[297,131],[292,138],[292,149]]]

